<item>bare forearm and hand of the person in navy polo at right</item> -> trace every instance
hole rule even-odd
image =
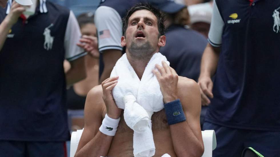
[[[202,55],[200,76],[198,78],[202,105],[209,105],[210,100],[208,97],[213,98],[211,77],[216,72],[219,55],[220,48],[213,47],[208,43]]]

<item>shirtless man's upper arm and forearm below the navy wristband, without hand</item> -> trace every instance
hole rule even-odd
[[[198,84],[180,77],[178,95],[187,121],[170,125],[174,150],[180,156],[202,156],[204,152],[200,129],[201,100]]]

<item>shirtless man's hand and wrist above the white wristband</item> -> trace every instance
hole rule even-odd
[[[121,115],[121,109],[117,107],[112,95],[112,90],[117,85],[118,78],[118,76],[107,78],[101,83],[103,89],[103,101],[106,105],[107,115],[113,119],[118,119]]]

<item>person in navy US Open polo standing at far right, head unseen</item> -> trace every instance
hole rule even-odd
[[[279,156],[280,1],[216,0],[213,7],[199,77],[202,103],[211,103],[203,129],[217,136],[213,156],[241,156],[245,147]]]

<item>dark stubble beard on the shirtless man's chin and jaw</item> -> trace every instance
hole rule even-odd
[[[143,44],[132,41],[128,51],[130,56],[134,59],[150,60],[153,56],[153,53],[156,51],[156,47],[153,48],[149,41]]]

